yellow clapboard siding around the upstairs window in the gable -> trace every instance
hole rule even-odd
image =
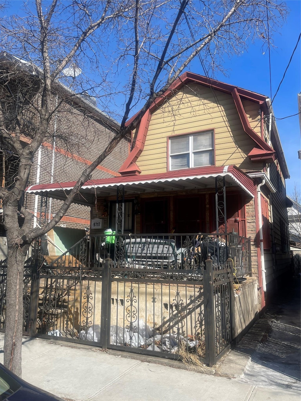
[[[260,136],[258,104],[245,102],[251,127]],[[199,84],[185,85],[153,112],[146,141],[136,164],[141,174],[166,172],[167,138],[214,130],[215,165],[235,164],[243,170],[261,170],[248,153],[255,142],[243,130],[232,95]]]

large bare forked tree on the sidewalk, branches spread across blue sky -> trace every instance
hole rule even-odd
[[[240,53],[249,41],[270,41],[267,18],[273,32],[286,12],[285,4],[272,0],[53,0],[45,4],[35,0],[35,4],[24,3],[25,16],[1,20],[2,50],[10,49],[28,62],[2,66],[0,83],[1,146],[18,158],[12,186],[0,189],[8,243],[4,364],[14,373],[21,375],[22,277],[32,241],[60,221],[92,171],[197,55],[208,70],[222,69],[224,57]],[[63,71],[72,65],[96,73],[87,74],[85,85],[83,74],[68,81]],[[22,197],[33,156],[50,135],[51,117],[57,110],[52,97],[59,80],[75,94],[89,83],[104,111],[122,110],[118,112],[121,124],[102,154],[82,172],[55,217],[44,227],[33,228],[33,215]],[[60,98],[64,99],[63,93]],[[136,118],[126,125],[138,106]],[[30,141],[22,146],[25,121]],[[18,214],[24,217],[22,225]]]

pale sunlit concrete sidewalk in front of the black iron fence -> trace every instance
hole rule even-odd
[[[0,335],[1,362],[3,340]],[[66,400],[299,401],[299,391],[259,387],[88,346],[24,338],[23,379]],[[122,355],[122,356],[121,356]]]

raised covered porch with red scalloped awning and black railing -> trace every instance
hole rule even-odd
[[[48,199],[63,200],[72,187],[28,188],[41,196],[42,225]],[[230,258],[237,277],[250,275],[256,253],[253,192],[252,179],[235,166],[89,181],[74,199],[91,207],[89,236],[57,258],[49,253],[46,262],[94,269],[110,257],[123,267],[200,269],[210,253],[215,265]]]

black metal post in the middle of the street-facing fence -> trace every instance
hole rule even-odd
[[[102,270],[102,308],[100,333],[102,338],[102,348],[107,349],[108,336],[110,336],[110,296],[111,296],[111,271],[109,257],[104,259],[104,268]],[[109,334],[108,334],[109,333]]]

